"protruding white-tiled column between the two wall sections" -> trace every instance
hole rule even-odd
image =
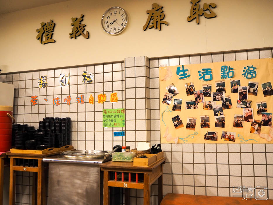
[[[125,58],[126,146],[151,142],[150,64],[146,56]]]

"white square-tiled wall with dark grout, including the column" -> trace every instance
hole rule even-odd
[[[39,89],[37,83],[37,78],[40,74],[45,74],[44,71],[1,74],[0,81],[17,85],[14,116],[18,123],[30,124],[32,122],[37,126],[37,122],[46,116],[71,117],[72,145],[75,148],[111,150],[113,145],[121,143],[135,148],[139,141],[151,143],[160,141],[158,78],[160,65],[198,64],[267,57],[272,57],[271,48],[150,60],[147,57],[131,57],[125,59],[125,64],[116,62],[48,70],[49,85],[46,89]],[[82,84],[82,71],[86,69],[95,75],[95,83]],[[69,87],[60,88],[58,86],[58,77],[62,72],[71,74]],[[132,86],[134,83],[135,86]],[[109,102],[104,102],[103,105],[98,104],[97,95],[102,92],[107,93],[107,101],[109,101],[109,93],[118,92],[120,102],[114,105]],[[95,96],[96,103],[77,105],[75,98],[81,93],[84,94],[85,102],[92,94]],[[68,94],[72,98],[70,106],[63,102]],[[39,96],[38,105],[35,107],[30,106],[31,95]],[[58,107],[49,103],[53,97],[57,96],[62,100]],[[45,103],[44,98],[49,101]],[[126,108],[126,129],[123,129],[126,130],[126,137],[123,137],[123,142],[121,142],[121,137],[113,137],[113,131],[121,129],[102,128],[101,111],[108,107]],[[272,144],[162,144],[162,149],[167,158],[163,169],[164,195],[172,192],[232,196],[233,186],[250,184],[267,186],[269,198],[273,199]],[[31,184],[31,173],[18,172],[16,204],[31,203]],[[152,185],[151,192],[152,204],[157,204],[156,182]],[[141,190],[131,190],[130,193],[131,204],[143,203]]]

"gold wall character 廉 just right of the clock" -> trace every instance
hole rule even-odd
[[[167,21],[164,21],[164,13],[163,13],[163,6],[159,6],[158,4],[154,3],[152,5],[152,8],[151,10],[147,10],[147,14],[149,14],[148,18],[147,18],[147,21],[146,21],[146,24],[143,26],[143,30],[145,31],[147,28],[152,28],[154,27],[155,29],[158,28],[158,30],[161,29],[160,25],[161,23],[164,23],[166,25],[168,25],[168,22]],[[151,24],[150,24],[150,21],[152,20]],[[149,25],[150,24],[150,25]]]

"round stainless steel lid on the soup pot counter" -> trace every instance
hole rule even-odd
[[[108,154],[108,151],[100,150],[76,150],[76,151],[65,151],[60,154],[63,158],[77,158],[77,159],[86,159],[86,158],[102,158],[104,155]]]

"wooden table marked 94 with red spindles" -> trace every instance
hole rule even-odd
[[[103,204],[109,205],[109,187],[123,187],[125,188],[125,204],[130,204],[130,191],[132,189],[143,189],[143,204],[150,205],[150,186],[158,179],[158,204],[162,201],[162,173],[163,164],[166,158],[160,159],[158,162],[150,165],[149,167],[135,167],[133,162],[113,162],[108,161],[99,165],[103,173]],[[125,182],[110,180],[110,172],[126,172],[138,173],[144,175],[143,182]],[[130,174],[131,175],[131,174]]]

